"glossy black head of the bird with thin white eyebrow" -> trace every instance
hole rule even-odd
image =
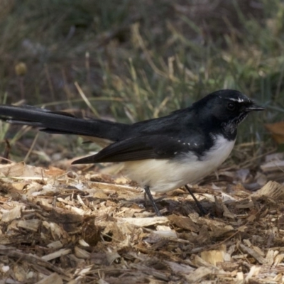
[[[226,136],[236,136],[237,126],[250,111],[262,111],[249,97],[233,89],[222,89],[208,94],[192,105],[204,122],[221,126]]]

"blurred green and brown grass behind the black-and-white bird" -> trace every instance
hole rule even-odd
[[[258,155],[273,146],[263,124],[284,116],[283,1],[0,0],[0,6],[1,103],[89,109],[133,122],[217,89],[239,89],[267,109],[241,126],[239,144]],[[1,139],[21,146],[14,152],[28,151],[32,140],[18,140],[25,131],[14,136],[8,127],[1,124]],[[91,147],[66,139],[48,152],[52,142],[43,137],[31,157],[44,149],[48,161],[55,148],[75,156]]]

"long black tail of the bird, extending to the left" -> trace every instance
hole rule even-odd
[[[129,124],[120,124],[102,119],[79,119],[64,111],[49,111],[31,106],[0,105],[0,119],[11,124],[40,128],[48,133],[76,134],[119,141]]]

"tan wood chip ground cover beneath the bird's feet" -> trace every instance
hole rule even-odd
[[[194,186],[214,218],[182,189],[156,217],[123,176],[0,165],[0,283],[283,283],[283,161]]]

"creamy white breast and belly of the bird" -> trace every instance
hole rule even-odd
[[[123,173],[138,182],[141,187],[148,185],[153,192],[167,192],[187,183],[195,183],[212,173],[228,158],[234,143],[235,141],[228,141],[224,136],[217,136],[214,148],[207,152],[202,160],[198,160],[197,156],[190,152],[171,161],[131,161],[124,163]]]

